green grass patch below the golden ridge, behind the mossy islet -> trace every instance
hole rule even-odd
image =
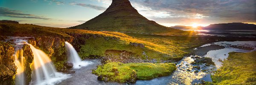
[[[104,38],[90,38],[85,40],[85,45],[81,45],[81,49],[79,51],[79,55],[82,58],[90,57],[90,55],[105,56],[106,50],[117,50],[117,51],[127,51],[130,53],[135,54],[135,56],[145,59],[144,55],[142,54],[143,51],[148,56],[148,59],[163,59],[165,55],[159,51],[154,51],[149,48],[140,48],[129,45],[129,43],[122,41],[122,40],[114,40],[109,39],[106,40]],[[172,58],[170,55],[167,57]],[[165,57],[165,58],[167,58]]]

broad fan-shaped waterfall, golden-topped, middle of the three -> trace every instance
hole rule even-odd
[[[47,54],[29,44],[34,55],[31,85],[54,85],[69,75],[56,72]]]

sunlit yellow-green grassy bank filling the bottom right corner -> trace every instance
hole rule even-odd
[[[256,85],[256,51],[230,52],[223,67],[212,76],[217,85]]]

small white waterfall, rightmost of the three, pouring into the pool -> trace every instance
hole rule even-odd
[[[73,68],[79,69],[83,66],[91,64],[91,62],[82,61],[79,55],[77,54],[75,48],[69,42],[65,42],[65,47],[68,62],[73,62]]]

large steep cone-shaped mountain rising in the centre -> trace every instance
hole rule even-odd
[[[162,33],[180,31],[174,28],[159,25],[148,20],[131,6],[129,0],[112,0],[111,6],[97,17],[78,25],[73,29],[94,31],[130,31],[140,33]]]

